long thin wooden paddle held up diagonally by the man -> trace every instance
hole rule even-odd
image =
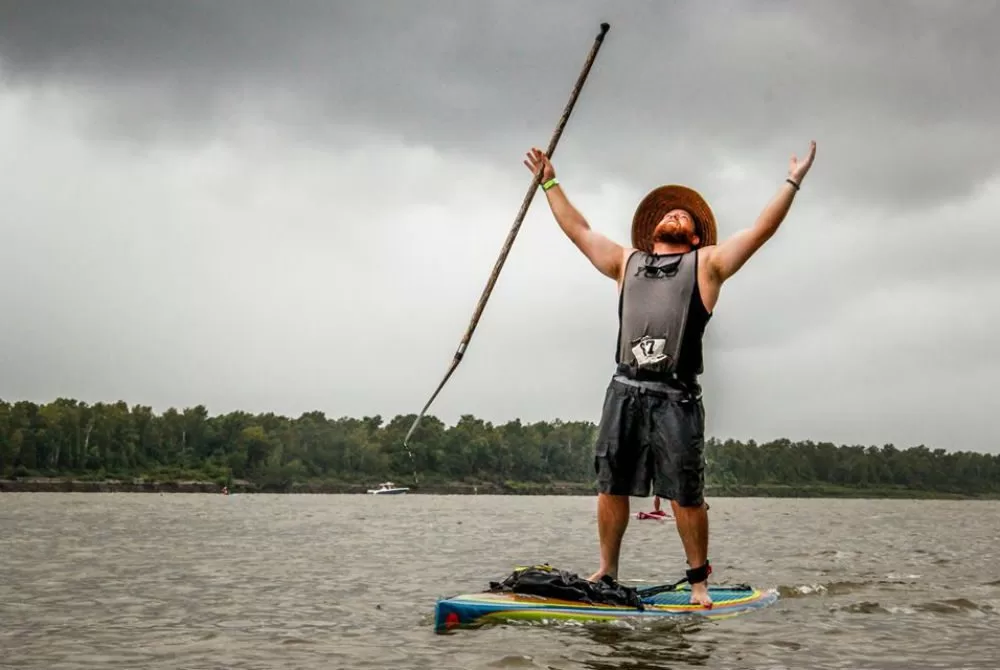
[[[590,53],[587,55],[587,60],[583,65],[583,70],[580,72],[580,76],[576,80],[576,85],[573,87],[573,91],[570,94],[569,102],[566,104],[562,117],[560,117],[559,123],[556,125],[555,132],[549,140],[549,146],[545,151],[545,155],[550,159],[556,151],[556,145],[559,143],[559,138],[562,137],[563,129],[566,127],[566,122],[569,120],[573,107],[576,105],[576,99],[579,97],[580,91],[583,89],[583,84],[587,80],[587,75],[590,74],[590,68],[593,66],[594,60],[597,58],[597,53],[600,51],[601,45],[604,43],[604,36],[610,28],[610,24],[601,24],[601,30],[597,34],[597,38],[594,40],[594,45],[591,47]],[[445,383],[447,383],[452,373],[455,372],[455,368],[458,367],[458,364],[462,361],[462,357],[465,355],[466,349],[469,347],[469,341],[472,339],[472,333],[475,332],[476,326],[479,324],[479,317],[482,316],[483,309],[486,307],[486,301],[489,300],[490,294],[493,292],[493,287],[496,285],[497,277],[500,275],[500,269],[507,260],[507,254],[510,253],[510,248],[514,244],[514,238],[517,237],[517,233],[521,229],[521,222],[524,221],[524,216],[528,212],[528,207],[531,205],[531,201],[535,197],[535,191],[538,190],[538,186],[541,183],[541,177],[542,171],[539,170],[538,174],[536,174],[532,180],[531,186],[528,188],[528,192],[524,196],[524,200],[521,202],[521,209],[517,213],[517,217],[514,219],[514,225],[511,226],[510,232],[507,233],[507,239],[503,244],[503,248],[500,250],[500,257],[497,258],[497,261],[493,266],[493,272],[490,273],[489,281],[486,282],[486,288],[483,289],[482,295],[479,296],[479,303],[476,305],[476,311],[472,315],[472,320],[469,321],[469,327],[465,330],[465,336],[462,337],[462,341],[458,345],[458,350],[455,352],[454,358],[452,358],[448,371],[445,373],[441,383],[438,384],[437,388],[434,390],[434,393],[431,394],[431,397],[424,405],[424,408],[420,410],[420,414],[418,414],[417,418],[413,421],[413,425],[410,426],[410,430],[406,433],[406,437],[403,438],[403,446],[406,447],[406,451],[408,453],[410,452],[410,448],[408,446],[410,437],[413,436],[413,432],[417,429],[417,425],[427,412],[427,409],[431,406],[431,403],[434,402],[438,393],[441,392]],[[410,459],[412,462],[412,453],[410,453]],[[414,480],[416,480],[416,470],[414,470],[413,477]]]

